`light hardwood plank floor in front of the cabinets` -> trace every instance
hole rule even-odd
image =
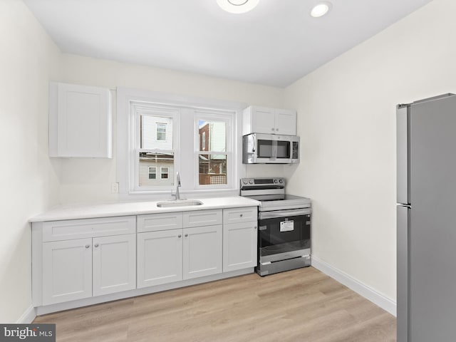
[[[388,342],[395,317],[313,267],[138,296],[56,314],[65,342]]]

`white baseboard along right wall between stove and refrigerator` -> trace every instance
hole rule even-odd
[[[321,259],[318,259],[318,257],[314,257],[314,255],[311,257],[311,264],[318,269],[318,271],[322,271],[327,276],[331,276],[331,278],[347,286],[348,289],[355,291],[357,294],[373,302],[373,304],[380,306],[383,310],[388,311],[393,316],[396,316],[395,301],[386,298],[383,294],[380,294],[360,281],[353,279],[348,274],[343,273],[343,271],[336,269],[336,267],[327,264]]]

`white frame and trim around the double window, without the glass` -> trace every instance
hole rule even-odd
[[[119,183],[120,200],[162,200],[170,197],[170,190],[175,190],[175,186],[152,187],[153,189],[138,189],[132,187],[135,177],[139,178],[138,170],[132,165],[135,161],[133,151],[135,141],[131,138],[130,132],[133,131],[135,120],[133,120],[132,108],[137,104],[153,104],[160,108],[180,108],[175,122],[173,122],[173,139],[177,142],[174,148],[175,165],[173,175],[180,172],[182,187],[181,194],[185,197],[224,197],[239,195],[239,177],[246,177],[246,166],[242,164],[242,110],[247,108],[246,103],[236,103],[220,101],[210,98],[197,98],[195,96],[183,96],[167,93],[157,93],[149,90],[137,90],[130,88],[117,88],[117,137],[116,155],[117,175]],[[197,169],[197,159],[195,158],[195,144],[192,139],[195,137],[195,130],[185,129],[194,125],[194,113],[197,111],[214,112],[217,110],[224,113],[231,113],[233,116],[232,127],[232,157],[228,160],[231,170],[227,170],[229,177],[228,185],[220,188],[219,186],[196,186],[199,181]],[[180,129],[182,127],[182,130]],[[182,139],[190,139],[190,144],[180,145]],[[183,140],[182,140],[183,141]],[[195,140],[193,140],[195,141]],[[139,158],[138,158],[139,159]],[[193,167],[192,167],[193,165]],[[182,167],[182,169],[181,169]],[[192,170],[193,169],[193,170]],[[175,181],[175,180],[174,180]],[[138,184],[138,183],[136,183]]]

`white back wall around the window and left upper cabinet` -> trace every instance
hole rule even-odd
[[[282,106],[284,90],[281,88],[70,54],[64,54],[62,60],[63,75],[55,81],[111,88],[114,101],[115,88],[126,87],[247,105]],[[113,108],[116,108],[115,104]],[[114,127],[114,141],[115,132]],[[63,160],[61,203],[117,200],[118,195],[112,194],[110,190],[112,182],[117,182],[115,147],[112,160]]]

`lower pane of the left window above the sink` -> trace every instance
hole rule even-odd
[[[140,187],[173,185],[174,154],[140,152]],[[160,177],[157,177],[160,170]]]

